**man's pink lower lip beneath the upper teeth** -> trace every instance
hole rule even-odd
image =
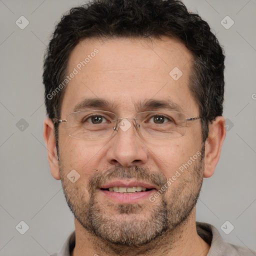
[[[156,189],[151,189],[143,192],[127,193],[127,194],[113,192],[109,190],[102,190],[102,189],[100,189],[100,191],[103,192],[108,198],[111,198],[117,202],[134,203],[134,202],[138,202],[141,199],[145,199],[145,198],[148,199],[150,194],[156,192]]]

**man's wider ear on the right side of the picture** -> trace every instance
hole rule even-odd
[[[209,124],[208,138],[205,141],[203,171],[203,177],[205,178],[210,177],[214,172],[225,135],[225,119],[223,116],[217,116],[215,120]]]

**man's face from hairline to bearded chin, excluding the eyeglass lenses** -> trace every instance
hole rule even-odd
[[[95,48],[98,53],[79,70],[77,64]],[[186,118],[196,117],[198,106],[188,88],[191,60],[186,47],[168,37],[83,40],[69,57],[67,74],[73,68],[78,73],[66,87],[60,117],[65,119],[86,99],[107,104],[76,111],[134,117],[141,111],[167,109],[157,104],[141,108],[155,100],[173,102]],[[199,120],[187,121],[185,134],[171,139],[142,137],[132,124],[112,137],[84,140],[68,136],[65,123],[59,124],[59,169],[68,205],[87,231],[117,244],[147,243],[187,219],[202,183],[201,150]],[[67,178],[73,169],[80,175],[74,183]],[[125,194],[102,189],[113,186],[153,189]]]

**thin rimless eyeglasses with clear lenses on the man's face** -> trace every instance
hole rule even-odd
[[[74,138],[93,140],[113,136],[118,129],[128,130],[132,124],[142,137],[169,139],[181,137],[186,131],[186,122],[202,117],[185,118],[176,111],[144,111],[135,117],[117,117],[113,112],[103,110],[77,111],[67,115],[65,120],[54,119],[55,123],[65,122],[65,129]]]

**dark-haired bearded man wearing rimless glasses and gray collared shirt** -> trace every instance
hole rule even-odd
[[[75,232],[56,255],[256,255],[195,222],[225,137],[223,62],[177,0],[97,0],[62,17],[43,136]]]

